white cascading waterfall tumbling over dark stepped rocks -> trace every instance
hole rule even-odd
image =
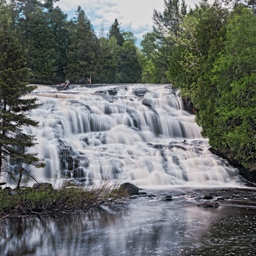
[[[238,169],[208,150],[194,116],[171,86],[130,84],[68,91],[38,87],[42,104],[27,127],[45,159],[38,180],[105,178],[140,186],[235,184]]]

